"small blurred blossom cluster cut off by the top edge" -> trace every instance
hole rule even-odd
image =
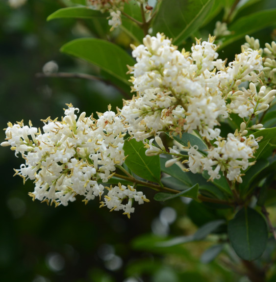
[[[111,26],[111,30],[122,25],[121,11],[125,2],[126,0],[87,0],[88,6],[92,9],[110,14],[107,19],[109,19],[108,25]]]

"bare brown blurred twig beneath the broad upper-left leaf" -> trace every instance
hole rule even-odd
[[[81,78],[81,79],[88,79],[88,80],[97,80],[105,83],[106,85],[111,85],[115,87],[118,91],[122,93],[124,98],[127,100],[130,98],[129,94],[125,92],[121,87],[117,86],[116,84],[110,82],[109,80],[92,76],[92,75],[87,75],[87,74],[79,74],[79,73],[55,73],[55,74],[43,74],[43,73],[37,73],[35,74],[35,77],[62,77],[62,78]]]

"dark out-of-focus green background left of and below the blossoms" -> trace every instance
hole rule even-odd
[[[56,61],[60,72],[99,74],[96,67],[59,52],[66,42],[93,35],[89,22],[47,22],[47,17],[61,7],[62,1],[28,0],[19,9],[11,9],[7,0],[0,1],[1,128],[8,121],[22,119],[25,124],[30,119],[33,126],[42,127],[40,119],[60,118],[65,103],[73,103],[88,114],[105,111],[109,103],[114,109],[122,106],[123,96],[104,83],[36,77],[50,60]],[[215,21],[207,28],[212,30],[214,26]],[[119,45],[129,45],[125,34],[114,34],[117,37],[113,40]],[[255,36],[264,45],[271,42],[275,33],[271,27]],[[227,47],[222,58],[233,59],[243,42]],[[0,137],[3,141],[4,131]],[[97,200],[88,205],[75,201],[57,208],[32,202],[27,196],[33,190],[32,182],[23,185],[21,178],[12,178],[13,168],[20,167],[21,158],[14,157],[7,148],[0,150],[0,281],[237,281],[223,257],[220,263],[200,262],[199,257],[209,243],[192,243],[167,251],[151,248],[157,240],[154,236],[195,231],[196,225],[185,214],[190,213],[193,221],[201,225],[206,218],[212,219],[213,210],[199,210],[196,203],[186,205],[180,199],[157,203],[151,191],[146,192],[151,204],[135,206],[130,220],[120,212],[99,210]],[[148,235],[135,240],[143,234]]]

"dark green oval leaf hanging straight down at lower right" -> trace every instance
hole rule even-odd
[[[250,207],[242,208],[228,223],[228,236],[236,254],[245,260],[262,255],[268,231],[264,218]]]

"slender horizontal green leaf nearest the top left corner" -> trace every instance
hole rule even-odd
[[[93,17],[106,17],[100,11],[89,9],[88,7],[68,7],[59,9],[47,18],[47,21],[54,19],[76,18],[76,19],[90,19]]]

